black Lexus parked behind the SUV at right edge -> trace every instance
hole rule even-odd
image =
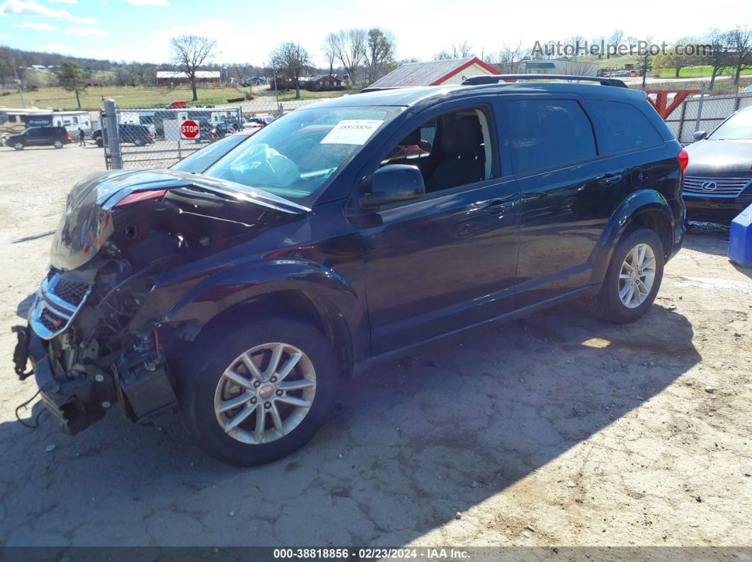
[[[694,137],[682,186],[687,218],[729,224],[752,205],[752,107]]]

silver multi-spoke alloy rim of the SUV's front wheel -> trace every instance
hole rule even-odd
[[[316,395],[316,371],[297,347],[257,345],[225,369],[214,392],[214,414],[226,434],[260,445],[290,434]]]

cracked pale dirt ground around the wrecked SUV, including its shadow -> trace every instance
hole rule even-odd
[[[0,545],[752,545],[752,270],[723,231],[687,237],[640,322],[570,305],[423,347],[265,467],[206,458],[176,416],[24,428],[10,327],[102,167],[0,149]]]

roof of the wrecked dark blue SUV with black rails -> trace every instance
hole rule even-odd
[[[572,84],[560,82],[514,82],[485,84],[481,86],[419,86],[415,88],[395,88],[365,92],[357,95],[344,95],[320,101],[316,107],[347,107],[368,105],[414,106],[432,98],[445,101],[470,97],[480,94],[540,94],[540,93],[580,94],[586,98],[607,99],[615,101],[644,101],[644,92],[599,84]],[[433,103],[429,101],[429,103]]]

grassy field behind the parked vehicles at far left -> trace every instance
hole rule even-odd
[[[229,98],[242,95],[235,88],[207,89],[199,88],[199,101],[195,104],[226,104]],[[81,95],[81,109],[96,110],[106,98],[113,98],[119,107],[155,107],[165,106],[175,100],[190,100],[190,86],[170,88],[132,88],[130,86],[92,86]],[[40,88],[36,92],[23,92],[26,107],[59,107],[63,110],[75,110],[76,96],[62,88]],[[189,102],[191,104],[191,102]],[[0,96],[0,107],[21,107],[18,92]]]

